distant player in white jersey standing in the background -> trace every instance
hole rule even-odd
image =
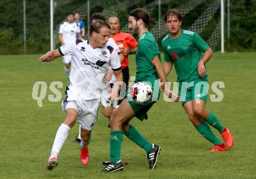
[[[67,13],[66,16],[67,21],[62,23],[59,27],[59,42],[61,45],[65,45],[70,41],[76,40],[76,35],[78,35],[79,39],[82,39],[80,34],[80,27],[74,23],[74,15],[73,13]],[[63,56],[63,63],[65,63],[65,73],[69,83],[69,74],[70,74],[70,65],[71,65],[71,55]]]

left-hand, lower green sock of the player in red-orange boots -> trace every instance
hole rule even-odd
[[[205,121],[202,120],[202,123],[199,126],[195,127],[198,132],[204,136],[209,142],[212,142],[212,144],[217,145],[217,144],[222,144],[221,141],[219,141],[218,138],[212,133],[211,128],[209,128],[208,124],[205,123]]]

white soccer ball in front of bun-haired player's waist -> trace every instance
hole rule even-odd
[[[131,98],[136,103],[144,103],[152,98],[152,88],[149,84],[138,82],[131,87]]]

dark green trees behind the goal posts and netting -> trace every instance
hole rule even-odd
[[[104,8],[120,1],[122,0],[105,1]],[[49,0],[26,0],[27,53],[42,53],[48,51],[50,48],[49,2]],[[135,2],[134,6],[131,6],[131,9],[147,5],[152,2],[152,0]],[[186,1],[172,1],[170,6],[162,6],[162,15],[168,8],[175,8],[183,2]],[[54,15],[55,26],[65,19],[67,12],[73,12],[84,3],[86,3],[84,0],[70,0],[64,5],[56,6]],[[192,10],[186,15],[186,18],[183,20],[183,28],[189,27],[198,17],[198,13],[202,13],[207,7],[208,3],[209,1],[205,1],[197,7],[197,9]],[[131,9],[126,9],[119,14],[122,26],[127,26],[127,14]],[[102,6],[96,6],[91,9],[91,13],[102,12],[102,10]],[[219,16],[219,13],[216,14]],[[157,19],[158,11],[153,10],[151,17]],[[84,22],[86,22],[86,20],[84,20]],[[218,21],[216,18],[213,18],[211,20],[211,26],[200,34],[202,38],[207,37],[209,31],[215,27],[216,23],[218,23]],[[230,46],[228,50],[248,51],[255,49],[256,0],[230,1]],[[23,53],[23,1],[3,0],[0,1],[0,54],[19,53]]]

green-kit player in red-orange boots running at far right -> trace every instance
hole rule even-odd
[[[174,63],[179,82],[180,102],[190,121],[202,136],[214,144],[212,152],[226,151],[226,146],[232,147],[233,137],[214,113],[205,109],[208,92],[205,63],[211,58],[212,50],[198,34],[180,28],[182,15],[178,10],[168,10],[165,13],[165,23],[169,30],[168,35],[162,40],[165,73],[170,73]],[[226,146],[216,138],[208,124],[221,133]]]

